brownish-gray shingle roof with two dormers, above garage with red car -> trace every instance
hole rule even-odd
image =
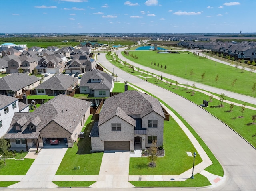
[[[90,109],[90,102],[60,94],[41,105],[34,112],[14,113],[5,138],[38,138],[40,130],[51,121],[56,122],[68,132],[73,133],[88,109]],[[20,121],[23,121],[24,117],[27,120],[26,124],[22,127],[21,132],[16,132],[13,125],[20,119],[22,119]],[[35,132],[29,131],[27,126],[30,123],[38,124]],[[58,132],[56,132],[56,136],[57,134]]]

